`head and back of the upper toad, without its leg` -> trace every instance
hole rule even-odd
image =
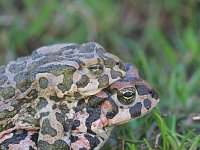
[[[0,67],[0,121],[38,97],[79,100],[125,74],[122,61],[97,43],[41,47]]]

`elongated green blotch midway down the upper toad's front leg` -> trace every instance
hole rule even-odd
[[[41,127],[41,133],[42,134],[48,134],[51,137],[54,137],[57,135],[57,131],[51,127],[50,121],[46,118],[44,119]]]

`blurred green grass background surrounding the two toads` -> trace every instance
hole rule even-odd
[[[200,149],[199,0],[1,0],[0,64],[55,43],[95,41],[160,93],[102,149]]]

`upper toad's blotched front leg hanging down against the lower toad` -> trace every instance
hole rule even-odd
[[[38,150],[69,149],[71,124],[75,114],[72,108],[66,101],[40,100],[37,105],[40,117]]]

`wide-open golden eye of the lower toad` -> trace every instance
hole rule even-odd
[[[125,88],[117,92],[118,101],[124,105],[130,105],[135,101],[136,90],[133,87]]]

